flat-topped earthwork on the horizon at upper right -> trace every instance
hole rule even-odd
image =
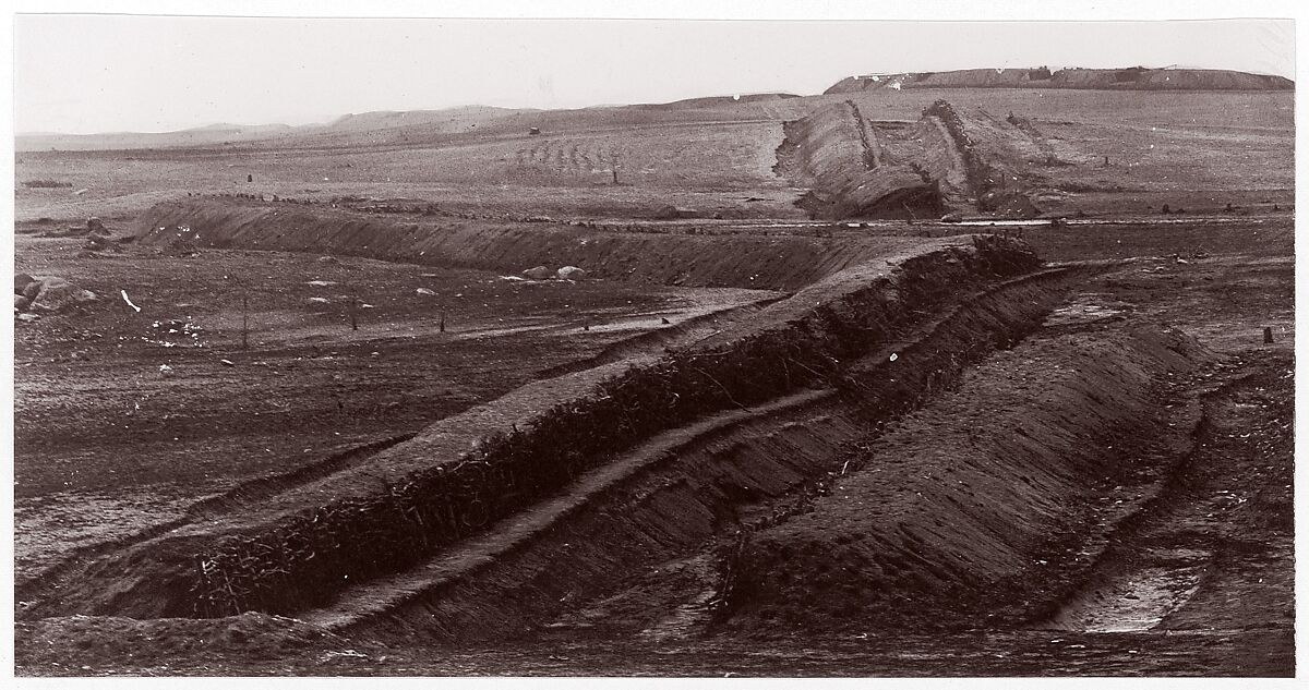
[[[1283,91],[1293,90],[1285,77],[1250,74],[1230,69],[1168,68],[1124,69],[1068,68],[1051,72],[1031,69],[957,69],[953,72],[906,72],[846,77],[825,94],[859,93],[876,89],[1111,89],[1111,90],[1194,90],[1194,91]]]

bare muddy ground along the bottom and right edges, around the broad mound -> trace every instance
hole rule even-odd
[[[970,631],[927,632],[914,626],[893,631],[873,625],[868,630],[816,635],[792,634],[781,626],[755,627],[744,636],[706,636],[712,629],[698,627],[707,621],[703,617],[695,617],[700,622],[692,621],[685,630],[674,626],[672,632],[636,630],[615,636],[610,629],[602,638],[569,623],[512,646],[453,648],[423,648],[367,632],[344,638],[313,630],[292,634],[293,625],[276,621],[241,623],[276,631],[271,632],[274,638],[251,635],[262,640],[255,644],[246,632],[195,638],[171,631],[169,626],[181,622],[50,619],[20,623],[20,639],[26,640],[20,673],[1288,674],[1293,663],[1288,618],[1293,261],[1289,227],[1283,222],[1267,225],[1271,227],[1259,227],[1263,237],[1254,237],[1250,227],[1229,226],[1029,231],[1029,239],[1055,257],[1094,257],[1097,252],[1139,257],[1086,280],[1055,312],[1050,328],[1113,332],[1128,321],[1177,327],[1194,333],[1223,358],[1223,366],[1208,374],[1211,378],[1191,379],[1198,396],[1194,400],[1207,419],[1195,436],[1196,450],[1170,470],[1160,498],[1141,504],[1136,516],[1106,541],[1109,548],[1101,555],[1076,578],[1064,580],[1067,593],[1047,601],[1054,605],[1047,606],[1047,617]],[[1086,252],[1086,233],[1107,242],[1093,243],[1100,250]],[[1213,254],[1187,255],[1186,248],[1198,239],[1208,242]],[[1170,248],[1174,251],[1168,252]],[[1179,263],[1182,256],[1190,259]],[[1186,289],[1178,289],[1183,284]],[[1274,345],[1262,344],[1263,325],[1274,328]],[[1066,357],[1056,346],[1030,346],[1043,348],[1046,357]],[[1028,345],[1014,354],[1021,348]],[[1004,375],[1003,358],[988,366],[995,369],[992,375]],[[978,378],[978,386],[986,386],[986,376]],[[1182,399],[1190,395],[1185,389]],[[986,397],[961,400],[987,404]],[[1113,497],[1113,491],[1106,495]],[[1122,514],[1122,504],[1113,498],[1105,503],[1106,515]],[[703,588],[704,575],[694,575],[702,567],[694,562],[666,563],[660,568],[669,575],[654,580],[673,583],[660,585],[672,587],[666,593],[657,595],[658,587],[652,589],[649,583],[634,580],[628,593],[619,588],[601,597],[613,604],[579,601],[576,610],[607,606],[611,613],[639,612],[641,597],[656,597],[649,602],[678,601]],[[634,605],[636,609],[631,609]],[[635,619],[649,618],[637,614]],[[105,626],[123,630],[106,635]],[[137,656],[124,661],[123,649],[114,646],[119,643],[106,642],[134,635],[160,643],[132,647]],[[183,639],[198,642],[182,648]],[[270,648],[278,651],[267,652]]]

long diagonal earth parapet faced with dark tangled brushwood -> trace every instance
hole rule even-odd
[[[521,426],[471,439],[471,450],[442,422],[368,468],[226,524],[134,545],[92,563],[60,601],[33,612],[226,616],[322,605],[353,583],[404,570],[482,532],[653,434],[831,386],[842,362],[859,359],[919,310],[1035,264],[997,238],[936,244],[895,259],[894,274],[884,261],[833,276],[764,308],[755,323],[600,380]],[[487,412],[488,419],[503,417],[493,409],[476,414]],[[442,447],[462,452],[436,452]]]

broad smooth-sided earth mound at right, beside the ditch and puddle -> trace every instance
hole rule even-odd
[[[1141,439],[1190,431],[1170,429],[1158,382],[1210,357],[1149,329],[996,355],[880,438],[810,511],[746,538],[729,625],[922,630],[1031,614],[1106,529],[1089,507],[1161,472]]]

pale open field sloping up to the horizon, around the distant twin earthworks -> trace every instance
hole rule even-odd
[[[192,149],[20,150],[20,183],[72,187],[20,187],[16,213],[20,221],[126,220],[194,192],[406,197],[491,216],[649,217],[674,205],[702,217],[804,217],[792,205],[802,189],[772,172],[781,124],[846,99],[873,122],[918,120],[937,99],[962,112],[1030,119],[1052,150],[1081,161],[1045,167],[1046,153],[1033,152],[1037,163],[1021,162],[1052,188],[1046,205],[1062,213],[1157,209],[1170,200],[1192,210],[1292,203],[1291,93],[919,89],[709,108],[529,112],[458,135],[406,125],[327,141],[288,135]],[[537,125],[542,135],[529,136]],[[610,174],[615,154],[618,184]],[[1191,192],[1206,192],[1206,201],[1192,203]]]

